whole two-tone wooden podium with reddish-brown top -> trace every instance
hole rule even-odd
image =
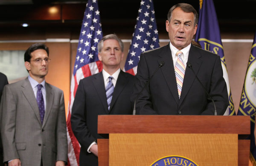
[[[97,140],[99,166],[151,166],[173,155],[198,166],[249,164],[249,116],[99,115],[98,133],[109,134]]]

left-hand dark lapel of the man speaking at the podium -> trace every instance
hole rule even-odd
[[[164,62],[166,65],[160,68],[163,73],[163,76],[168,84],[169,90],[172,93],[173,98],[175,99],[176,103],[179,103],[179,95],[177,90],[177,83],[176,83],[176,76],[173,67],[173,60],[172,60],[172,52],[170,49],[170,45],[164,46],[163,51],[160,53],[160,59],[158,63]]]

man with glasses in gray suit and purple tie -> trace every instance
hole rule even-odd
[[[28,78],[6,85],[0,104],[4,162],[9,166],[64,166],[67,134],[63,91],[45,82],[49,49],[25,52]]]

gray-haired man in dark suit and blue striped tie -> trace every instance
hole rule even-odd
[[[71,126],[81,145],[80,166],[98,165],[98,115],[132,114],[129,100],[134,76],[120,70],[124,45],[116,35],[109,34],[98,44],[103,70],[82,79],[76,91],[71,114]]]

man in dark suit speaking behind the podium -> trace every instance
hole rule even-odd
[[[140,55],[132,97],[138,96],[137,114],[214,115],[213,103],[195,74],[215,101],[218,115],[224,114],[229,102],[221,60],[218,55],[191,44],[197,23],[198,14],[189,4],[179,3],[169,10],[166,20],[169,44]],[[186,67],[187,62],[192,68]]]

